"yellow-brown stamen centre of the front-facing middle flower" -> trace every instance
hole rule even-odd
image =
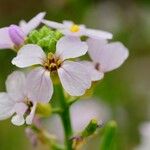
[[[62,61],[52,53],[48,53],[47,59],[44,61],[43,66],[48,71],[57,71],[61,67]]]

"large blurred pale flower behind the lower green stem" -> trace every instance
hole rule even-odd
[[[74,132],[79,133],[89,124],[91,119],[98,120],[103,123],[110,118],[110,110],[104,104],[95,99],[79,100],[71,106],[71,121]],[[43,120],[43,125],[49,130],[51,134],[63,140],[63,127],[59,116],[53,115],[49,120]]]

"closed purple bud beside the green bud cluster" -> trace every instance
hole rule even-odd
[[[25,40],[25,34],[21,30],[19,26],[11,25],[9,27],[9,36],[12,40],[12,42],[15,44],[15,46],[20,46],[24,43]]]

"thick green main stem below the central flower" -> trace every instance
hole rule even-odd
[[[62,113],[60,113],[60,117],[62,120],[62,124],[64,127],[64,134],[65,134],[65,145],[66,145],[66,150],[72,150],[72,126],[71,126],[71,120],[70,120],[70,110],[69,110],[69,105],[67,103],[67,100],[64,96],[63,89],[60,85],[57,86],[57,92],[59,95],[59,103],[60,107],[63,110]]]

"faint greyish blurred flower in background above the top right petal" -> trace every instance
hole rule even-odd
[[[86,13],[84,21],[91,26],[100,26],[102,29],[112,31],[115,34],[126,26],[125,21],[127,20],[125,20],[124,17],[125,13],[126,11],[120,7],[119,3],[103,1],[90,8]],[[130,12],[130,16],[131,15]]]

